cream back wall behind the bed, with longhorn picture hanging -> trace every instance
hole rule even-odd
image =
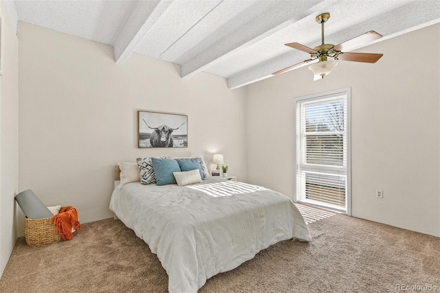
[[[73,205],[80,221],[112,217],[113,166],[160,155],[222,153],[246,180],[244,89],[210,74],[19,23],[19,189],[47,205]],[[137,111],[188,115],[188,148],[138,149]],[[22,218],[21,218],[22,219]],[[23,227],[23,224],[20,224]]]

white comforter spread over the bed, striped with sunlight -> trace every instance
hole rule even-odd
[[[197,292],[278,241],[311,240],[287,196],[219,178],[183,187],[129,183],[115,188],[110,209],[157,254],[169,292]]]

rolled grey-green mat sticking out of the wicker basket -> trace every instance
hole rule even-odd
[[[15,195],[15,200],[17,200],[21,210],[23,210],[28,219],[43,219],[54,216],[49,208],[30,189]]]

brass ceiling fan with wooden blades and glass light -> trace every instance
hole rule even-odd
[[[314,80],[322,79],[324,76],[331,73],[333,67],[338,65],[336,61],[327,61],[327,58],[333,58],[334,60],[343,60],[343,61],[355,61],[355,62],[363,62],[363,63],[376,63],[384,54],[373,54],[373,53],[348,53],[342,52],[344,50],[351,50],[355,47],[360,47],[364,43],[369,43],[376,39],[382,38],[382,34],[378,34],[373,30],[361,34],[360,36],[356,36],[349,41],[345,41],[344,43],[340,43],[339,45],[332,45],[324,43],[324,23],[328,21],[330,18],[329,13],[322,13],[316,17],[316,22],[321,25],[321,45],[314,47],[311,49],[305,45],[301,45],[300,43],[288,43],[285,44],[288,47],[292,47],[296,50],[300,50],[306,53],[309,53],[311,58],[297,63],[295,65],[286,67],[285,69],[281,69],[278,72],[274,72],[272,75],[282,74],[283,72],[287,72],[289,70],[295,69],[306,63],[312,62],[315,63],[309,66],[309,69],[314,72]]]

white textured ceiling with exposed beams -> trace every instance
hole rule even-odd
[[[384,36],[377,43],[440,22],[438,0],[16,0],[8,8],[17,21],[112,45],[121,66],[136,52],[181,65],[182,78],[223,76],[230,88],[309,58],[284,44],[319,45],[322,12],[331,14],[325,41],[335,45],[369,30]]]

